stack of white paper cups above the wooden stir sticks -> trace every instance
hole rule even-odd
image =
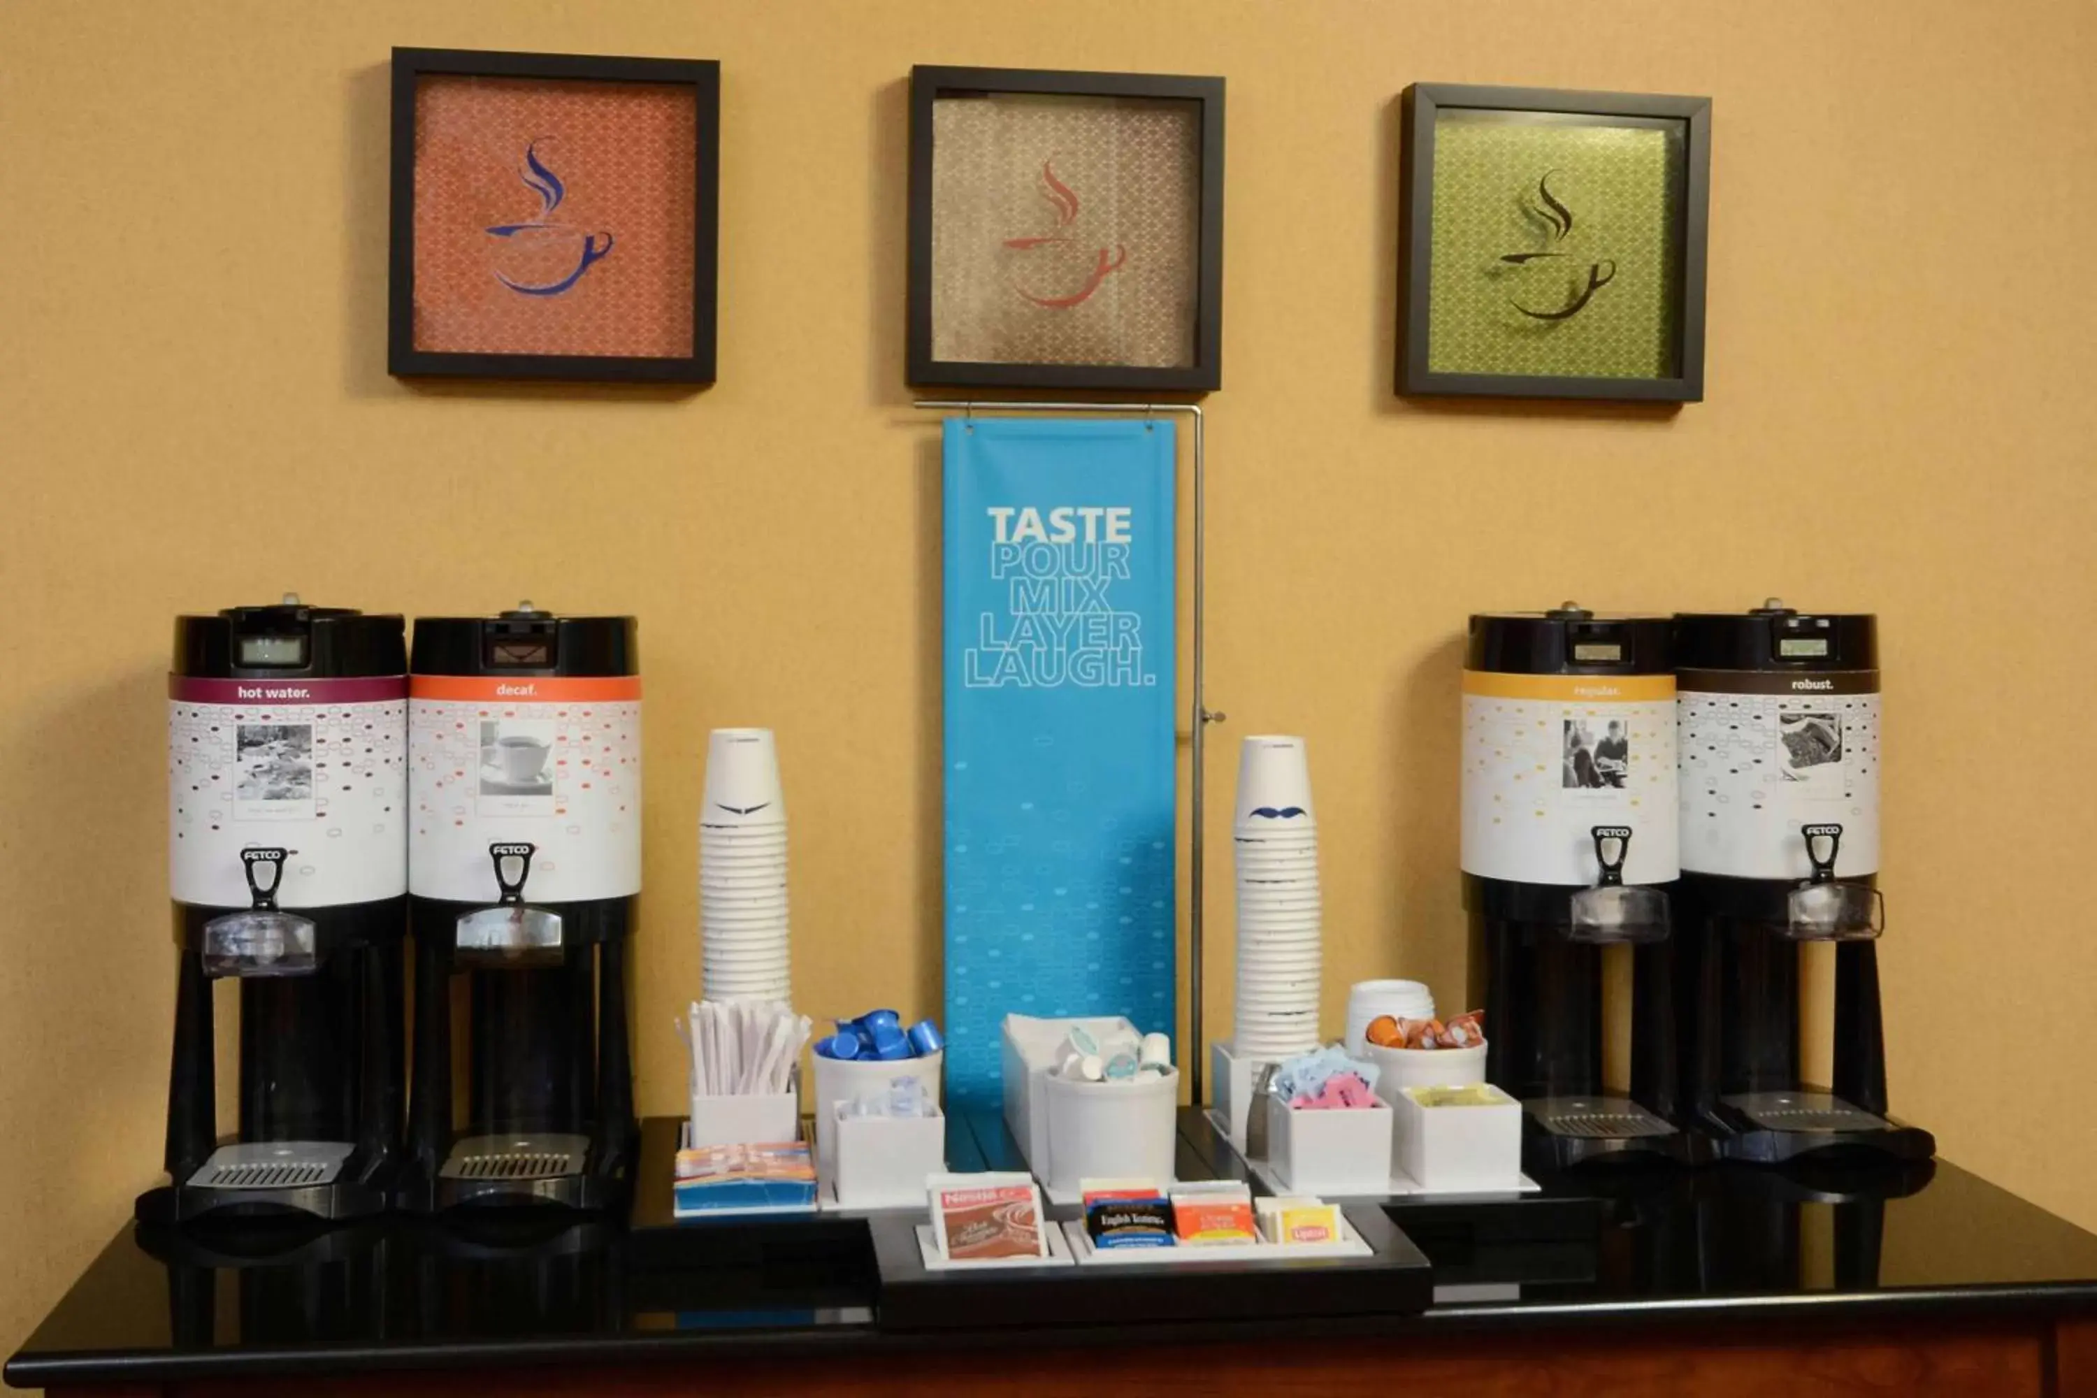
[[[768,727],[707,740],[698,813],[698,926],[707,1000],[780,1000],[786,958],[786,796]]]

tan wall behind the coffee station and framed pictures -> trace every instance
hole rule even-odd
[[[715,390],[386,377],[396,42],[721,59]],[[682,1092],[711,725],[782,734],[805,1008],[937,1006],[935,430],[902,386],[914,61],[1231,82],[1212,702],[1225,738],[1313,738],[1334,1031],[1359,977],[1460,993],[1468,610],[1877,610],[1896,1102],[1948,1159],[2097,1226],[2089,0],[13,0],[0,1346],[155,1174],[176,610],[298,587],[644,618],[646,1109]],[[1715,99],[1709,402],[1390,396],[1411,80]],[[1231,771],[1218,750],[1223,792]],[[1227,912],[1210,970],[1220,1031]]]

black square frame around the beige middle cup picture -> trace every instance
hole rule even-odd
[[[1032,365],[933,358],[931,220],[933,103],[960,92],[1181,99],[1202,105],[1202,201],[1195,264],[1193,363],[1183,367]],[[1210,392],[1223,386],[1223,78],[1166,73],[1074,73],[1017,67],[910,69],[910,277],[906,377],[952,388],[1093,388],[1118,392]]]

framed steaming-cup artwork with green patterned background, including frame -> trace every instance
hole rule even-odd
[[[1703,398],[1711,99],[1413,84],[1399,392]]]

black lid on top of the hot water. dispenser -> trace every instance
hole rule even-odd
[[[185,679],[361,679],[407,673],[398,614],[317,608],[285,593],[268,606],[174,618],[172,671]]]

